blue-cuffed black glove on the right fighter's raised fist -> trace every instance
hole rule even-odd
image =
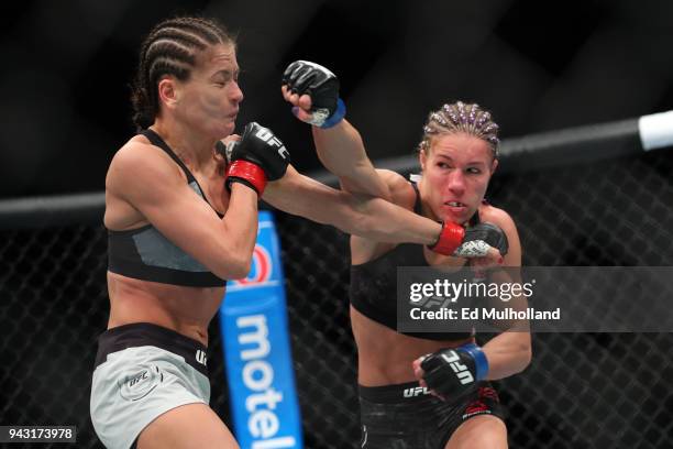
[[[328,68],[308,61],[295,61],[283,73],[282,85],[299,96],[311,97],[311,120],[320,128],[332,128],[345,116],[339,98],[339,79]]]

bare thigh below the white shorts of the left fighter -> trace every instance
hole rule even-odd
[[[173,408],[143,429],[137,449],[222,448],[238,449],[224,423],[206,404]]]

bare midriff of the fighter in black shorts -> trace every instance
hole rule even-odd
[[[357,344],[357,382],[364,386],[416,381],[412,362],[442,348],[473,341],[426,340],[405,336],[365,317],[351,306],[351,326]]]

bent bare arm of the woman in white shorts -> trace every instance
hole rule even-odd
[[[166,154],[130,142],[110,164],[106,196],[140,212],[219,277],[240,278],[250,271],[257,234],[257,194],[252,188],[232,183],[229,207],[220,219]]]

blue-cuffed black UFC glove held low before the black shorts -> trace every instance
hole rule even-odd
[[[488,374],[488,360],[482,348],[474,343],[455,349],[440,349],[421,362],[423,381],[444,399],[460,397]]]

